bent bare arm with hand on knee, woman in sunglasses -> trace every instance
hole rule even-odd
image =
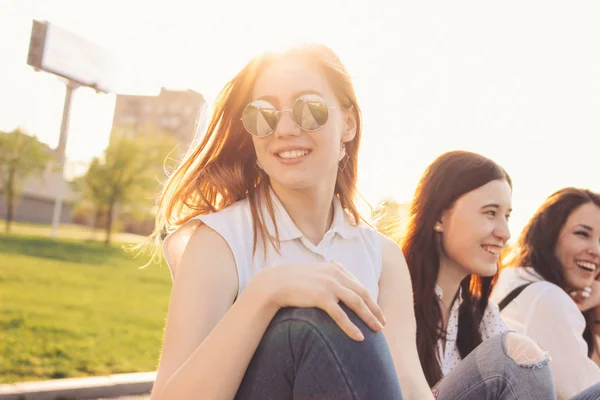
[[[375,300],[335,263],[267,268],[235,300],[237,291],[231,249],[215,231],[200,226],[175,275],[152,400],[233,399],[281,307],[319,307],[349,336],[362,340],[340,308],[341,300],[371,329],[381,329],[383,316]]]

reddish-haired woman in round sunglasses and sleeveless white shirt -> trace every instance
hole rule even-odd
[[[153,400],[432,398],[404,257],[353,201],[360,136],[326,47],[225,86],[159,203],[174,283]]]

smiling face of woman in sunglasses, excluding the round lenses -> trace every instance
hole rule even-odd
[[[314,63],[287,58],[266,68],[256,80],[253,100],[266,100],[277,110],[291,110],[302,96],[318,96],[330,106],[325,124],[302,130],[292,113],[280,113],[274,132],[252,137],[256,157],[273,186],[305,189],[327,183],[333,187],[342,143],[356,134],[353,114],[340,108],[332,88]]]

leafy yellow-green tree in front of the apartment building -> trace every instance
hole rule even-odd
[[[94,204],[96,217],[106,215],[105,244],[109,245],[117,206],[150,208],[164,177],[163,161],[175,148],[174,139],[154,133],[114,137],[103,158],[94,158],[75,187]]]

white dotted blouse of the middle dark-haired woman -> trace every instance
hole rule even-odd
[[[435,287],[435,293],[438,299],[442,298],[442,288]],[[446,376],[456,365],[462,360],[460,353],[458,352],[458,346],[456,345],[456,338],[458,336],[458,311],[460,304],[462,303],[462,288],[459,289],[458,299],[452,303],[452,309],[450,310],[450,318],[448,319],[448,327],[446,328],[446,348],[444,349],[444,340],[438,340],[438,361],[442,368],[442,374]],[[488,303],[479,331],[481,332],[481,339],[486,340],[492,336],[504,333],[508,330],[506,324],[500,317],[498,306],[492,303]]]

